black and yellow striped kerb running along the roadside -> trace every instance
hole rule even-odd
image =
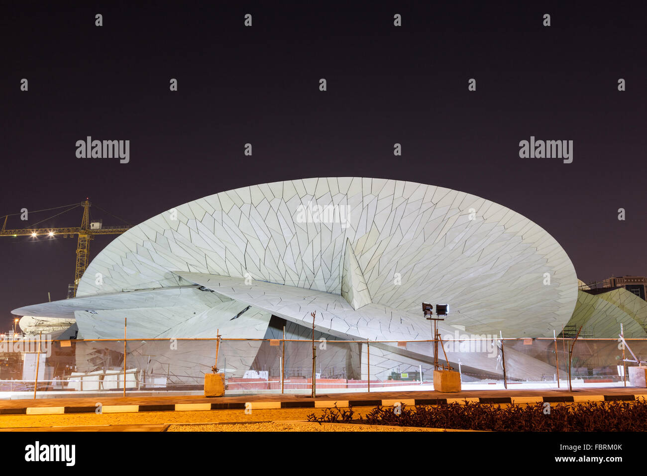
[[[67,413],[138,413],[152,411],[208,411],[208,410],[272,410],[298,408],[391,407],[402,405],[442,405],[443,403],[579,403],[611,401],[647,401],[647,394],[633,395],[569,395],[569,396],[507,396],[507,397],[457,397],[457,398],[395,398],[388,400],[310,400],[290,402],[231,402],[231,403],[170,403],[140,405],[87,405],[78,407],[18,407],[0,408],[0,415],[47,415]]]

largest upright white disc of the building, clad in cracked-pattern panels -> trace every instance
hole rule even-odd
[[[96,256],[78,296],[178,286],[177,272],[339,295],[347,256],[366,284],[354,307],[368,299],[420,315],[422,300],[446,302],[450,322],[474,332],[552,335],[577,299],[564,249],[517,212],[448,188],[358,177],[253,185],[162,212]]]

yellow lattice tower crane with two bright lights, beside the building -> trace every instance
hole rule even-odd
[[[88,265],[88,257],[90,253],[90,240],[94,238],[96,234],[122,234],[123,232],[130,229],[130,225],[122,227],[104,227],[101,220],[90,221],[90,207],[92,204],[89,199],[86,198],[85,201],[82,201],[80,204],[76,203],[74,205],[63,205],[63,207],[56,207],[57,209],[71,207],[61,213],[65,213],[69,210],[72,210],[76,207],[83,207],[83,218],[81,219],[80,227],[72,228],[23,228],[23,229],[6,229],[6,220],[9,218],[9,215],[5,216],[5,222],[3,223],[2,230],[0,231],[0,236],[32,236],[36,238],[37,236],[56,236],[63,235],[65,238],[69,235],[78,234],[78,244],[76,245],[76,271],[74,273],[74,281],[72,284],[67,286],[67,297],[68,299],[76,296],[76,289],[78,288],[79,282],[85,269]],[[54,210],[54,209],[49,209]],[[44,210],[37,210],[44,211]],[[104,210],[105,211],[105,210]],[[56,215],[55,215],[56,216]],[[53,217],[50,217],[53,218]],[[47,220],[47,219],[45,219]],[[41,220],[41,221],[45,221]],[[38,222],[40,223],[40,222]],[[36,224],[38,224],[36,223]]]

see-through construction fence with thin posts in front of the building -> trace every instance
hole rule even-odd
[[[647,339],[626,339],[638,359]],[[439,361],[464,389],[629,385],[631,354],[617,339],[444,339]],[[219,348],[216,359],[216,348]],[[433,389],[433,341],[314,341],[318,393]],[[0,340],[0,398],[134,392],[200,394],[217,365],[226,394],[310,394],[307,339]]]

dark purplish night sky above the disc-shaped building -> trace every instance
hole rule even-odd
[[[0,215],[89,196],[136,224],[245,185],[383,177],[520,212],[587,282],[647,274],[640,3],[203,3],[3,5]],[[78,159],[87,135],[128,139],[130,163]],[[574,141],[573,163],[520,159],[531,135]],[[43,225],[80,220],[77,209]],[[0,330],[47,291],[65,298],[75,249],[76,238],[0,238]]]

